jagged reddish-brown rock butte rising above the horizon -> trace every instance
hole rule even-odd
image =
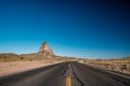
[[[40,49],[39,49],[39,53],[41,54],[47,54],[47,55],[53,55],[53,52],[52,49],[49,47],[48,43],[47,42],[43,42]]]

